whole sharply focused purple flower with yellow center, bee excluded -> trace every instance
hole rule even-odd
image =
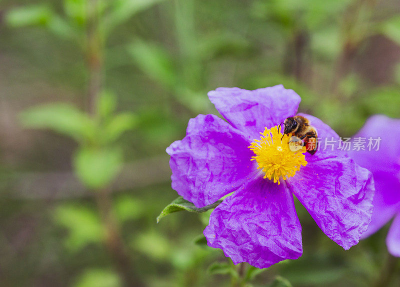
[[[235,264],[259,268],[298,258],[301,226],[292,193],[329,238],[344,249],[358,242],[372,212],[371,174],[336,146],[314,155],[287,148],[288,136],[281,140],[277,125],[297,111],[300,97],[293,90],[221,87],[208,97],[227,122],[199,114],[166,152],[172,188],[197,207],[234,191],[210,215],[204,229],[209,246],[221,248]],[[328,125],[303,116],[316,128],[321,147],[325,139],[337,144]]]

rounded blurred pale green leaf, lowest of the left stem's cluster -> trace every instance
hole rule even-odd
[[[109,184],[118,174],[122,153],[117,148],[80,148],[74,155],[75,172],[88,188],[100,188]]]

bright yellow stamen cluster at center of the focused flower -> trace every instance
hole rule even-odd
[[[306,151],[305,146],[297,148],[290,146],[290,133],[282,134],[277,126],[274,126],[271,129],[265,127],[264,132],[260,134],[260,139],[254,139],[248,147],[255,154],[251,156],[251,160],[256,160],[257,168],[265,172],[264,178],[273,178],[273,182],[280,184],[280,177],[286,180],[300,169],[300,165],[307,165],[303,154]]]

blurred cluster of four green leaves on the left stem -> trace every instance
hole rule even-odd
[[[35,106],[20,114],[23,126],[47,128],[77,140],[81,147],[75,152],[73,165],[80,180],[88,188],[101,188],[117,175],[123,160],[122,152],[113,143],[135,126],[130,112],[113,114],[114,95],[99,95],[96,117],[65,103]]]

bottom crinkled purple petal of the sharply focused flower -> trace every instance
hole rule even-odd
[[[262,177],[226,197],[212,211],[204,235],[235,264],[265,268],[302,253],[292,194],[284,184]]]

